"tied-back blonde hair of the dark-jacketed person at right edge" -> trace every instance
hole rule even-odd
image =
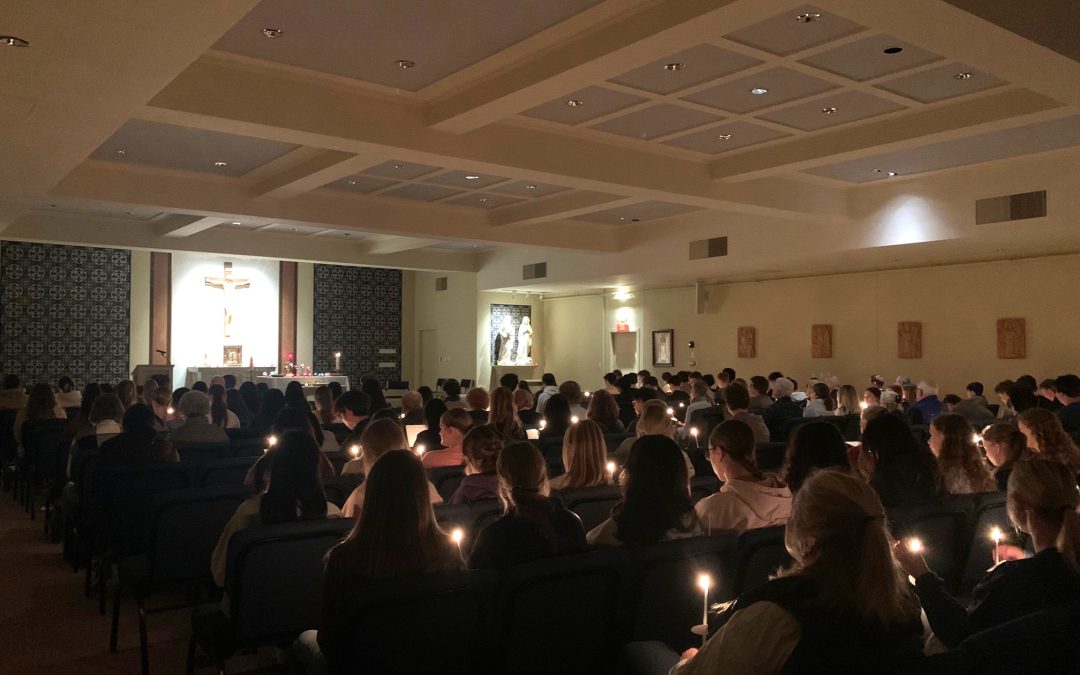
[[[1080,575],[1080,516],[1077,504],[1076,475],[1061,462],[1032,459],[1016,462],[1009,474],[1009,515],[1015,522],[1015,508],[1028,508],[1037,517],[1061,522],[1054,548],[1069,568]],[[1018,524],[1016,524],[1018,527]]]

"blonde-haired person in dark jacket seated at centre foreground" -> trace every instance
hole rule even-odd
[[[476,536],[470,568],[505,569],[585,550],[581,518],[549,496],[548,463],[536,446],[511,443],[503,447],[496,473],[505,513]]]

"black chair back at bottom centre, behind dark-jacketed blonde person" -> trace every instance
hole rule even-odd
[[[492,626],[501,627],[501,649],[490,671],[512,675],[611,672],[629,564],[625,549],[611,548],[508,570],[492,621]]]

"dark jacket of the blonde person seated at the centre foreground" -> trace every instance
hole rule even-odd
[[[539,497],[519,503],[476,538],[469,567],[503,569],[586,548],[581,518],[558,501]]]

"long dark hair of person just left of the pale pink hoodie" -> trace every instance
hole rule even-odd
[[[651,544],[669,530],[696,525],[683,450],[666,436],[642,436],[626,460],[622,499],[611,510],[616,537],[626,544]]]

